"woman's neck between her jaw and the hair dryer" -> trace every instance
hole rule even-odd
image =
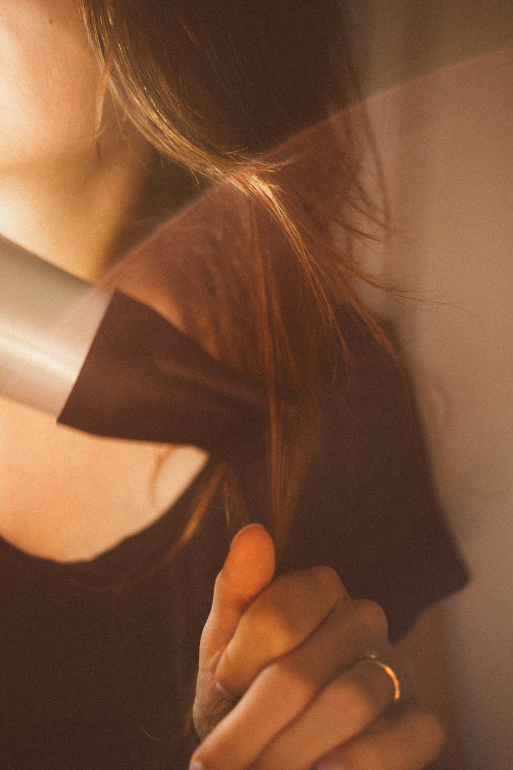
[[[0,163],[0,233],[90,281],[126,242],[152,150],[135,129],[85,157],[41,166]]]

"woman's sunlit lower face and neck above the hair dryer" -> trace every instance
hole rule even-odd
[[[150,149],[112,100],[73,0],[0,7],[0,232],[88,280],[141,192]]]

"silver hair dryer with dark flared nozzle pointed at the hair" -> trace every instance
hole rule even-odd
[[[265,390],[151,307],[0,238],[0,393],[105,437],[263,448]]]

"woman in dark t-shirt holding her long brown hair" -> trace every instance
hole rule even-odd
[[[418,768],[440,747],[375,601],[396,641],[465,571],[398,353],[351,292],[349,235],[379,219],[351,126],[279,147],[344,103],[337,4],[274,6],[0,11],[2,233],[96,280],[198,175],[227,179],[104,283],[266,399],[264,444],[208,460],[2,405],[10,767],[185,767],[201,740],[196,770]]]

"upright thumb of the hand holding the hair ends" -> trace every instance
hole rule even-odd
[[[275,574],[275,547],[261,524],[248,524],[232,540],[215,581],[212,610],[203,629],[200,669],[217,665],[245,609]]]

